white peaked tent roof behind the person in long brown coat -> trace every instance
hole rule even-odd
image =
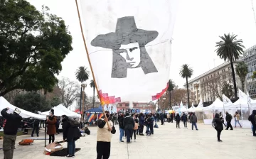
[[[69,116],[69,117],[73,117],[73,118],[81,118],[80,114],[75,113],[74,111],[70,111],[70,109],[67,109],[65,106],[63,106],[63,104],[59,104],[58,106],[54,106],[54,115],[55,116]],[[45,112],[40,112],[38,111],[39,114],[43,114],[43,115],[49,115],[50,111],[45,111]]]

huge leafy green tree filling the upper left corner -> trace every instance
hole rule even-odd
[[[62,18],[25,0],[0,1],[0,96],[15,90],[52,91],[61,62],[73,50]]]

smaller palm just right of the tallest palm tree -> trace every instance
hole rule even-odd
[[[235,72],[237,72],[240,77],[242,83],[242,92],[245,92],[245,77],[248,73],[248,67],[245,62],[239,62],[238,65],[235,66]]]

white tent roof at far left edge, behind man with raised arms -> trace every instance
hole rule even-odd
[[[9,111],[7,111],[8,113],[13,113],[14,109],[18,108],[16,106],[10,104],[8,101],[6,101],[6,99],[4,99],[4,97],[0,97],[0,111],[2,111],[3,109],[5,109],[7,107],[9,107]],[[20,108],[18,108],[18,109],[20,109]],[[20,109],[20,110],[21,110],[20,116],[23,118],[34,118],[34,119],[46,120],[46,116],[34,114],[34,113],[31,113],[31,112],[23,110],[23,109]],[[0,114],[0,116],[1,116],[1,114]]]

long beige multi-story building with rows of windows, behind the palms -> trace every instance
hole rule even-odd
[[[233,62],[234,68],[238,65],[238,62],[242,62],[242,57]],[[235,81],[237,83],[237,89],[241,89],[242,84],[240,78],[236,74]],[[223,94],[221,90],[225,84],[233,87],[230,62],[224,62],[212,70],[188,81],[191,102],[193,102],[193,104],[198,104],[200,99],[202,99],[203,102],[211,102],[215,101],[216,98],[222,98]],[[186,84],[184,87],[186,87]]]

